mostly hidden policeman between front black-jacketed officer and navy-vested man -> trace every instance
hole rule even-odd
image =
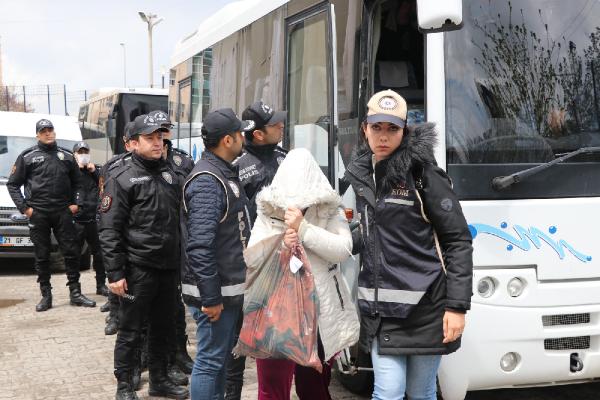
[[[173,128],[173,125],[171,124],[169,116],[164,111],[153,111],[149,115],[154,117],[163,128],[169,130],[169,132],[163,133],[163,158],[169,162],[171,169],[179,175],[183,182],[194,168],[192,157],[185,151],[173,147],[173,143],[171,142],[171,129]],[[182,227],[182,229],[185,229],[185,227]],[[174,382],[187,385],[187,377],[182,375],[181,371],[188,375],[191,374],[194,361],[187,352],[185,306],[183,305],[183,300],[181,298],[181,277],[179,270],[176,279],[177,296],[175,299],[175,307],[177,311],[175,314],[175,336],[169,341],[169,377]]]

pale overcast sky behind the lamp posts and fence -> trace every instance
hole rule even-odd
[[[153,31],[154,85],[160,87],[161,65],[168,70],[177,41],[231,1],[0,0],[4,84],[66,84],[68,111],[76,115],[75,91],[123,86],[119,43],[125,43],[127,86],[147,87],[148,30],[138,15],[144,11],[164,18]],[[44,96],[27,101],[47,112]],[[64,112],[62,97],[52,98],[51,112]]]

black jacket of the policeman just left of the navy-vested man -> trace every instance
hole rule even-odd
[[[128,264],[179,267],[181,182],[164,160],[135,154],[113,168],[100,203],[100,244],[109,282],[125,277]]]

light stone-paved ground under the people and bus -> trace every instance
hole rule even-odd
[[[115,336],[105,336],[104,316],[98,308],[72,307],[64,274],[54,274],[54,308],[34,310],[39,300],[35,274],[28,263],[0,259],[0,400],[1,399],[112,399],[112,351]],[[83,272],[83,292],[104,302],[95,292],[93,271]],[[191,321],[190,321],[191,322]],[[194,337],[188,323],[190,337]],[[194,353],[195,342],[188,347]],[[142,376],[138,395],[148,396],[148,376]],[[256,399],[256,368],[248,361],[243,399]],[[334,400],[364,400],[344,390],[335,380]],[[467,400],[597,400],[600,384],[562,388],[472,393]]]

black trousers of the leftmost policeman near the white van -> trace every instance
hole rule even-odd
[[[51,232],[54,232],[65,259],[67,284],[79,282],[80,250],[71,210],[66,207],[62,211],[47,213],[34,209],[29,218],[29,233],[35,246],[35,269],[40,287],[50,286]]]

